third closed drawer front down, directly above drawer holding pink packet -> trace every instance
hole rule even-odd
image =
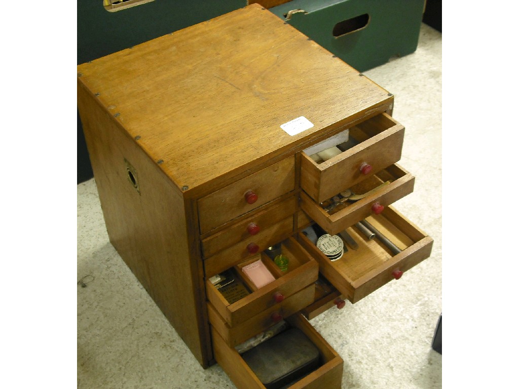
[[[206,272],[206,275],[212,277],[215,274],[238,265],[238,263],[243,260],[264,251],[267,247],[288,238],[292,235],[293,229],[294,217],[291,215],[290,217],[281,220],[279,223],[265,228],[256,235],[227,247],[217,254],[205,259],[203,261],[204,271]],[[251,245],[253,247],[257,246],[257,250],[253,253],[250,252]]]

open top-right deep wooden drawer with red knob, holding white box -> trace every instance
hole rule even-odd
[[[349,148],[341,154],[317,163],[301,153],[301,187],[317,203],[330,199],[398,162],[403,140],[404,127],[388,114],[367,119],[349,129]],[[363,163],[371,165],[371,170],[364,170],[367,174],[360,170]]]

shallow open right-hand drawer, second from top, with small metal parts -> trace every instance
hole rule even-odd
[[[327,212],[324,209],[327,203],[317,204],[302,192],[301,208],[326,232],[335,235],[376,212],[384,213],[384,209],[380,211],[380,205],[385,208],[412,193],[414,184],[415,177],[399,165],[394,164],[351,187],[354,193],[367,193],[373,190],[373,193],[358,201],[345,201]],[[378,185],[384,186],[376,189]],[[375,208],[376,206],[378,208]]]

